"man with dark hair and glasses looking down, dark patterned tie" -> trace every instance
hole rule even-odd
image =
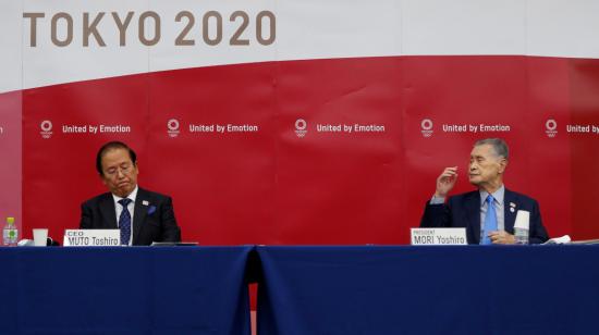
[[[171,198],[137,186],[137,158],[127,145],[103,145],[96,170],[110,191],[82,204],[82,229],[118,228],[126,246],[181,240]]]

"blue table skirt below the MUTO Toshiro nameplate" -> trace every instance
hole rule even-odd
[[[0,334],[250,334],[253,247],[1,248]]]

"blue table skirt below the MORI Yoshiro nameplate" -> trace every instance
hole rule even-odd
[[[260,335],[599,334],[599,246],[257,251]]]

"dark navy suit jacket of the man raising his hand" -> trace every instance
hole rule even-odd
[[[505,189],[503,200],[504,229],[514,234],[518,210],[530,212],[530,244],[541,244],[549,237],[541,221],[539,204],[533,198]],[[514,203],[514,211],[510,210]],[[420,227],[465,227],[468,244],[480,243],[480,193],[478,190],[453,196],[447,203],[430,204],[427,201]]]

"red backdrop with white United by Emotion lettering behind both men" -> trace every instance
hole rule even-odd
[[[406,244],[444,166],[462,172],[454,193],[472,189],[468,154],[485,137],[506,139],[506,187],[539,200],[551,236],[599,236],[599,134],[567,132],[599,126],[599,60],[266,62],[48,86],[24,90],[21,99],[25,237],[37,226],[54,237],[78,226],[81,202],[105,191],[96,151],[118,139],[138,153],[139,185],[173,197],[185,240]],[[171,119],[180,125],[175,137]],[[307,123],[304,137],[295,132],[298,119]],[[42,121],[52,123],[49,138]],[[318,132],[356,123],[384,132]],[[89,124],[126,125],[131,133],[62,132]],[[190,124],[248,124],[258,132],[192,133]],[[464,124],[510,132],[443,129]]]

